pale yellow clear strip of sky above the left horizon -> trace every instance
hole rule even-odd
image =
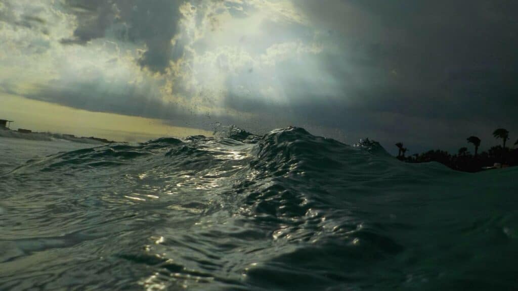
[[[11,129],[26,128],[35,132],[95,136],[128,142],[164,136],[212,135],[207,130],[169,126],[157,119],[90,112],[5,93],[0,93],[0,119],[15,121]]]

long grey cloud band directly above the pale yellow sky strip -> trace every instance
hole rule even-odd
[[[196,103],[164,100],[160,93],[161,85],[161,82],[151,80],[128,84],[125,80],[109,80],[102,72],[93,72],[82,80],[59,78],[37,85],[33,93],[24,94],[24,97],[92,112],[162,119],[166,124],[205,130],[212,130],[213,124],[218,122],[224,125],[246,124],[244,115],[228,112],[214,115],[200,110]],[[10,82],[0,82],[0,89],[20,94]],[[272,123],[269,125],[269,129],[274,126]],[[257,128],[254,126],[252,129]]]

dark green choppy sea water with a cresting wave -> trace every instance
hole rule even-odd
[[[405,164],[294,127],[63,144],[0,153],[1,290],[518,288],[516,168]]]

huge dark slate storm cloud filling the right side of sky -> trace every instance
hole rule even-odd
[[[428,144],[450,143],[452,133],[460,136],[456,141],[482,135],[486,125],[518,130],[517,2],[294,3],[326,33],[325,41],[342,49],[324,52],[320,63],[342,80],[337,94],[343,101],[328,108],[326,117],[311,117],[315,122],[333,116],[346,123],[340,115],[351,112],[375,114],[374,122],[362,126],[370,135],[389,122],[383,116],[397,116],[398,123],[386,128],[391,135],[404,132],[400,138],[409,143]],[[310,108],[322,104],[316,99]],[[428,137],[415,120],[423,121]]]

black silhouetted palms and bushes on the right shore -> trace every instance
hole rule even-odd
[[[480,154],[478,151],[482,140],[477,136],[470,136],[466,139],[474,147],[473,154],[469,152],[467,147],[461,147],[456,154],[450,154],[442,150],[430,150],[421,154],[405,156],[406,148],[401,142],[398,142],[396,143],[399,150],[397,158],[407,163],[438,162],[454,170],[465,172],[518,166],[518,147],[516,147],[518,140],[514,142],[513,148],[506,147],[506,142],[509,140],[509,131],[505,128],[496,129],[493,132],[493,137],[501,139],[502,144],[493,146]]]

